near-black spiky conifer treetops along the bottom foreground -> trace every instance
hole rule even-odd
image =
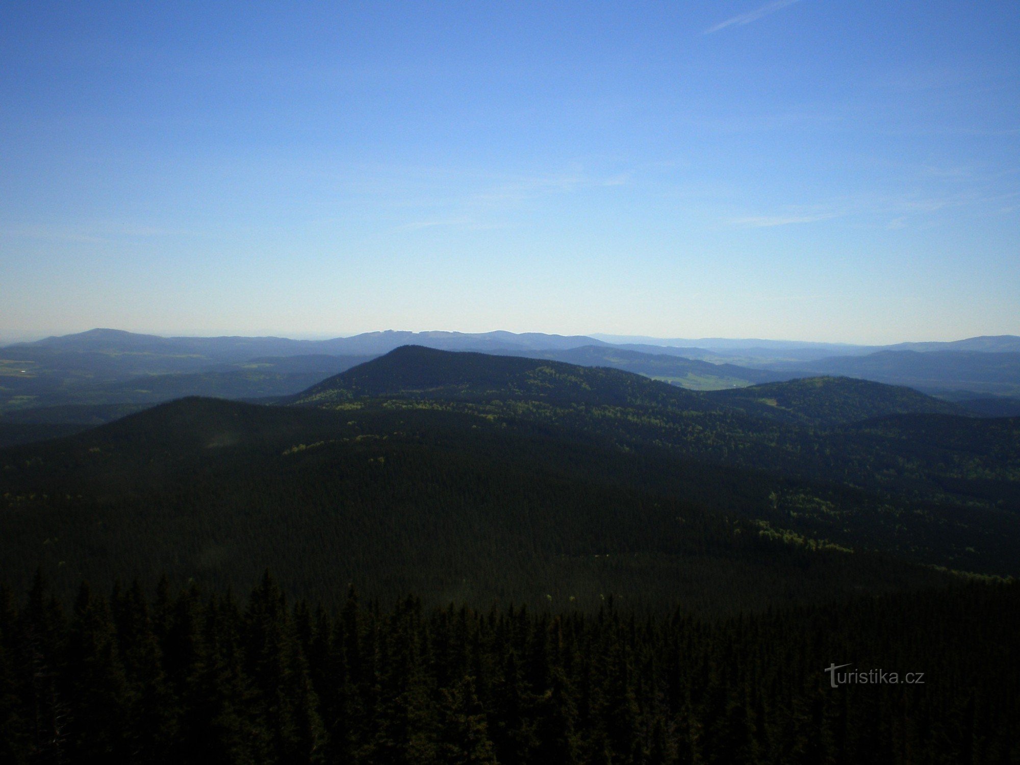
[[[290,602],[268,573],[244,600],[165,580],[83,583],[66,606],[41,577],[16,603],[4,590],[0,760],[1020,759],[1016,584],[714,622],[612,599],[582,613],[345,598]]]

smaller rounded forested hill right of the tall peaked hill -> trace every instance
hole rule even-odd
[[[702,396],[727,408],[768,419],[823,426],[848,424],[890,414],[957,414],[958,404],[911,388],[852,377],[807,377],[785,382],[710,391]]]

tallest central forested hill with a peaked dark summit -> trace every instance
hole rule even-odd
[[[323,405],[359,397],[493,398],[601,405],[700,408],[693,392],[605,367],[403,346],[319,382],[288,403]]]

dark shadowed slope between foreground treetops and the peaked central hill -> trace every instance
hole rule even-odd
[[[239,586],[270,566],[304,597],[354,581],[437,603],[615,594],[730,612],[944,579],[784,538],[774,498],[803,504],[810,483],[385,402],[185,399],[0,450],[0,576],[19,584],[41,566],[68,588],[161,571]]]

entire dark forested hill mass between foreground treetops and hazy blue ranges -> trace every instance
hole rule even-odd
[[[1020,573],[1020,421],[912,391],[402,347],[284,403],[0,450],[0,574],[711,611]]]

